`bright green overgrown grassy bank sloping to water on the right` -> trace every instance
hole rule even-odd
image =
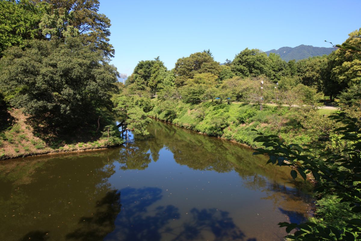
[[[317,110],[286,106],[265,105],[260,111],[258,105],[246,103],[187,104],[156,99],[152,102],[154,107],[149,116],[251,147],[260,147],[260,143],[253,142],[257,134],[252,129],[279,135],[288,143],[311,143],[327,134],[325,128],[330,124],[327,116]]]

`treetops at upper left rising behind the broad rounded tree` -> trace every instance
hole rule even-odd
[[[0,52],[23,47],[26,39],[62,39],[81,36],[109,57],[110,20],[99,14],[98,0],[4,0],[0,2]]]

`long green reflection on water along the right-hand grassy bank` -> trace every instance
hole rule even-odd
[[[177,163],[190,168],[217,172],[234,170],[243,178],[247,188],[264,192],[265,197],[262,199],[271,200],[274,209],[282,207],[290,219],[301,221],[305,218],[299,215],[305,213],[305,207],[300,207],[300,203],[306,205],[312,202],[312,198],[306,194],[310,186],[293,181],[288,168],[266,165],[265,157],[253,156],[252,151],[234,143],[197,135],[163,122],[153,121],[148,131],[151,133],[149,137],[136,137],[135,143],[130,146],[130,149],[136,147],[137,151],[142,151],[147,163],[151,162],[149,153],[158,156],[158,152],[166,147],[173,153]],[[137,158],[139,156],[136,155]],[[133,160],[128,157],[123,162],[132,163]],[[128,166],[136,167],[134,164]],[[298,216],[292,216],[292,210],[302,212],[295,212]]]

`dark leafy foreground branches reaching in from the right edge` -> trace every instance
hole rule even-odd
[[[349,204],[348,212],[359,214],[361,212],[361,130],[357,125],[357,119],[344,119],[342,115],[330,116],[343,127],[334,131],[342,134],[345,140],[345,148],[340,154],[322,152],[314,155],[312,149],[321,149],[310,145],[287,145],[277,135],[264,135],[258,132],[255,142],[263,142],[264,148],[255,149],[257,154],[269,156],[267,163],[279,166],[292,167],[291,176],[293,179],[298,174],[306,180],[307,175],[317,181],[316,192],[336,195],[340,202]],[[327,221],[327,220],[326,220]],[[323,225],[314,222],[302,224],[279,223],[280,227],[286,227],[286,232],[293,229],[297,231],[286,237],[290,240],[360,240],[361,219],[353,218],[345,220],[343,227]]]

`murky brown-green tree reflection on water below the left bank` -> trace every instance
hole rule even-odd
[[[103,236],[112,231],[117,195],[108,178],[115,172],[117,153],[112,150],[2,162],[0,183],[6,185],[1,186],[0,193],[0,240],[63,240],[66,233],[77,239],[86,233],[84,225]],[[113,204],[107,205],[109,202]],[[110,207],[113,216],[106,216]]]

